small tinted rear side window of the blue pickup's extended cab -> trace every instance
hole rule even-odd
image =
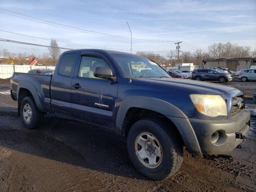
[[[64,54],[59,64],[58,74],[71,76],[75,62],[76,53]]]

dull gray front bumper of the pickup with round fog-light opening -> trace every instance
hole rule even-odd
[[[243,140],[236,138],[235,132],[247,135],[250,130],[250,112],[244,110],[238,116],[223,120],[189,119],[196,134],[201,153],[207,155],[226,154]],[[218,140],[213,139],[218,132]]]

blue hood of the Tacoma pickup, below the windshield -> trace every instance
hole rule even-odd
[[[202,82],[196,80],[188,79],[178,79],[178,78],[138,78],[139,81],[148,82],[150,84],[158,84],[156,86],[176,86],[180,88],[185,88],[193,90],[200,94],[226,94],[226,92],[231,90],[236,90],[232,86],[220,85],[218,83]],[[151,85],[150,85],[151,86]]]

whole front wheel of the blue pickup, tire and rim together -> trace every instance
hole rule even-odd
[[[174,175],[182,164],[179,134],[156,119],[142,119],[129,130],[127,147],[135,168],[143,175],[162,180]]]

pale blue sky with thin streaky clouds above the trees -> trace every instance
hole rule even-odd
[[[196,48],[207,52],[210,44],[228,41],[256,48],[256,0],[0,0],[0,9],[0,30],[8,31],[0,31],[0,38],[33,44],[49,45],[49,40],[40,38],[55,38],[64,48],[96,46],[130,52],[128,22],[133,53],[166,55],[176,49],[177,41],[182,41],[180,50],[190,52]],[[39,18],[29,19],[41,23],[20,14]],[[45,47],[0,41],[3,48],[16,53],[48,52]]]

